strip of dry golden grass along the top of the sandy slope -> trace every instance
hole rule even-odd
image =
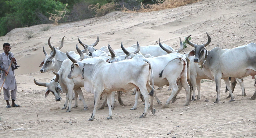
[[[166,0],[162,4],[152,4],[152,5],[143,5],[142,3],[140,4],[140,9],[139,10],[129,10],[125,7],[123,7],[123,12],[152,12],[152,11],[160,11],[164,9],[169,9],[169,8],[177,8],[183,5],[187,5],[190,3],[195,3],[199,2],[201,0]]]

